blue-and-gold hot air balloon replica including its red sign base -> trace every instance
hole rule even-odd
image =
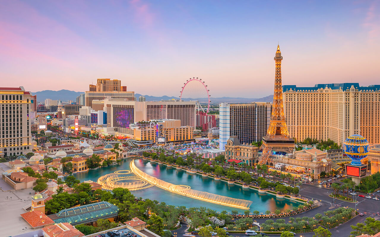
[[[367,165],[362,164],[361,160],[368,155],[368,141],[362,135],[352,135],[344,141],[343,151],[351,158],[351,163],[345,165],[346,174],[358,185],[361,177],[366,176]]]

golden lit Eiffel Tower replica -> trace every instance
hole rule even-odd
[[[289,137],[288,127],[284,116],[284,108],[282,102],[282,82],[281,82],[281,51],[277,45],[276,56],[274,61],[276,71],[274,77],[274,95],[271,121],[269,123],[268,132],[263,137],[263,144],[260,149],[263,149],[263,154],[259,158],[259,164],[268,164],[270,156],[274,151],[283,151],[287,153],[293,152],[294,140]]]

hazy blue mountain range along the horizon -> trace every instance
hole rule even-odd
[[[44,90],[44,91],[37,91],[32,92],[33,95],[37,96],[37,101],[44,101],[45,99],[52,99],[52,100],[73,100],[76,101],[76,97],[79,96],[79,94],[84,92],[76,92],[76,91],[70,91],[70,90],[59,90],[59,91],[52,91],[52,90]],[[141,96],[141,94],[136,93],[135,97],[138,99]],[[160,100],[171,100],[171,99],[179,99],[178,97],[174,96],[149,96],[144,95],[146,101],[160,101]],[[229,102],[229,103],[249,103],[249,102],[272,102],[273,101],[273,95],[262,97],[262,98],[243,98],[243,97],[210,97],[211,103],[219,103],[219,102]],[[185,98],[183,100],[199,100],[199,102],[205,102],[207,101],[207,98]]]

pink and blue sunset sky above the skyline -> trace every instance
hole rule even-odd
[[[190,77],[212,97],[283,85],[380,84],[380,0],[0,0],[1,86],[87,91],[97,78],[179,96]]]

